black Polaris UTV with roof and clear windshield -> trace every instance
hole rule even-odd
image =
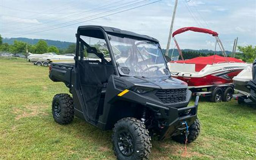
[[[171,78],[157,39],[102,26],[80,26],[76,38],[75,64],[49,68],[50,79],[64,82],[72,94],[54,96],[56,122],[69,124],[75,115],[113,129],[119,160],[148,159],[152,135],[181,143],[198,137],[198,97],[187,107],[191,91]]]

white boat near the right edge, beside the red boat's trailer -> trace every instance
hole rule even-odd
[[[247,85],[250,80],[253,80],[252,67],[253,64],[248,64],[242,72],[233,78],[235,90],[244,95],[248,95],[250,93],[250,89],[245,85]]]

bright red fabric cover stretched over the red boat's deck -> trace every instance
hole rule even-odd
[[[195,64],[195,71],[200,72],[207,64],[213,63],[223,63],[223,62],[237,62],[237,63],[245,63],[241,60],[232,57],[223,57],[219,55],[212,55],[212,56],[202,56],[192,58],[190,60],[184,61],[171,61],[171,63],[187,63],[187,64]]]

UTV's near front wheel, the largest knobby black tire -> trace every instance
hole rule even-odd
[[[152,146],[148,130],[136,118],[116,122],[112,143],[118,160],[148,160]]]

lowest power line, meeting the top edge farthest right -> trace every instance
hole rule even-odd
[[[114,14],[122,13],[122,12],[129,11],[129,10],[132,10],[132,9],[135,9],[135,8],[140,8],[140,7],[147,6],[147,5],[157,3],[157,2],[160,2],[160,1],[162,1],[162,0],[157,0],[157,1],[154,1],[154,2],[151,2],[151,3],[146,3],[144,5],[140,5],[140,6],[136,6],[136,7],[133,7],[133,8],[125,9],[123,11],[119,11],[119,12],[116,12],[116,13],[112,13],[112,14],[108,14],[108,15],[105,15],[105,16],[97,17],[97,18],[94,18],[94,19],[89,19],[89,20],[85,20],[85,21],[82,21],[82,22],[77,22],[77,23],[74,23],[74,24],[64,25],[64,26],[61,26],[61,27],[56,27],[56,28],[51,28],[51,29],[48,29],[48,30],[32,32],[32,33],[28,33],[28,34],[40,33],[40,32],[44,32],[44,31],[49,31],[49,30],[55,30],[55,29],[58,29],[58,28],[68,27],[68,26],[71,26],[71,25],[80,24],[80,23],[83,23],[83,22],[88,22],[88,21],[91,21],[91,20],[96,20],[96,19],[100,19],[100,18],[103,18],[103,17],[107,17],[107,16],[112,16]],[[22,35],[28,35],[28,34],[22,34]],[[16,36],[21,36],[21,35],[16,35]]]

